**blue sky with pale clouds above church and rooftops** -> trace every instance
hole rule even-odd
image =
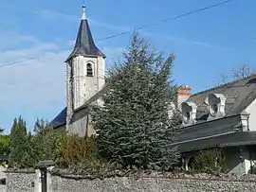
[[[79,1],[2,0],[0,65],[46,54],[38,60],[0,68],[0,127],[9,131],[22,115],[32,130],[36,117],[51,120],[65,105],[65,64],[82,14]],[[220,0],[87,0],[95,40],[144,26]],[[208,89],[232,67],[256,65],[254,0],[234,0],[140,31],[155,47],[174,53],[174,79],[193,92]],[[129,43],[123,35],[98,46],[107,65],[121,59]]]

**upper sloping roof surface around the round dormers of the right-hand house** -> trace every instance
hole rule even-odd
[[[205,99],[209,94],[222,94],[226,96],[226,116],[242,113],[256,98],[256,75],[231,81],[190,96],[187,101],[194,102],[197,105],[197,122],[206,121],[207,119],[208,111]]]

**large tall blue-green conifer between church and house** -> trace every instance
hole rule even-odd
[[[108,73],[104,105],[93,107],[92,122],[103,155],[123,167],[172,169],[179,152],[170,144],[179,121],[170,119],[174,102],[174,55],[166,60],[137,33]]]

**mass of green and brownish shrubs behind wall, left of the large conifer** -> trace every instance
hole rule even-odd
[[[21,118],[20,121],[24,122]],[[18,125],[17,119],[13,125]],[[11,148],[10,167],[34,167],[43,160],[53,160],[56,166],[72,168],[73,171],[104,166],[93,138],[81,138],[53,130],[44,119],[36,120],[34,131],[34,135],[28,133],[26,139],[23,138],[23,148]],[[19,159],[14,156],[17,154],[16,148],[22,154],[18,153]]]

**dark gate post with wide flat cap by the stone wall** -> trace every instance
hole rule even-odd
[[[54,162],[49,160],[49,161],[40,161],[38,162],[38,164],[36,165],[37,168],[40,169],[41,172],[41,190],[42,192],[50,192],[47,191],[47,168],[49,166],[54,166]]]

